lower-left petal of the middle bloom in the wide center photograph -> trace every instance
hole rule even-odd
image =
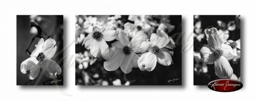
[[[109,49],[109,55],[104,62],[104,68],[107,71],[114,71],[121,66],[123,60],[125,58],[125,54],[122,49],[118,49],[116,47],[111,47]]]

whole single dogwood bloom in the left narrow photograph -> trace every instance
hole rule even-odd
[[[31,53],[30,58],[21,63],[21,72],[23,74],[27,73],[28,78],[33,80],[38,76],[42,68],[45,76],[56,78],[56,75],[61,73],[61,68],[55,61],[51,60],[57,49],[55,44],[56,41],[52,38],[45,41],[41,38]]]

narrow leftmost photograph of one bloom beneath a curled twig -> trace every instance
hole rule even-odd
[[[17,85],[63,85],[63,15],[17,15]]]

